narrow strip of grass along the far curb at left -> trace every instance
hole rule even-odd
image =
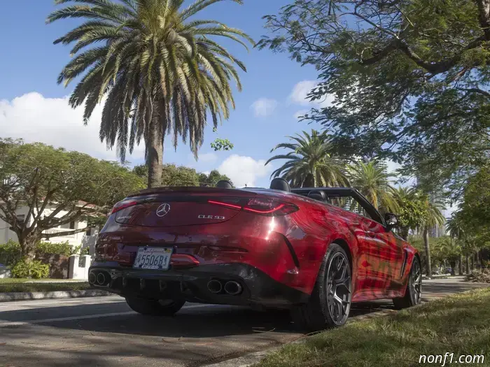
[[[32,279],[6,278],[0,279],[0,293],[6,292],[55,292],[55,291],[83,291],[90,289],[88,282],[48,283],[52,279],[41,280],[38,283],[29,283]]]

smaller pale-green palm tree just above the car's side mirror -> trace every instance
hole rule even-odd
[[[398,203],[391,194],[393,188],[389,184],[386,167],[376,159],[367,163],[358,161],[349,166],[349,180],[353,187],[373,203],[376,208],[386,211],[398,211]]]

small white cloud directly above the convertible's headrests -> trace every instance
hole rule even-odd
[[[255,180],[269,175],[271,166],[265,166],[265,159],[255,161],[252,157],[232,154],[218,167],[218,171],[227,175],[236,187],[255,186]]]

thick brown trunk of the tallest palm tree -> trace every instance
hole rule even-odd
[[[148,155],[148,188],[160,187],[162,185],[162,164],[163,164],[163,131],[160,127],[160,114],[154,110],[151,118],[150,129],[148,131],[148,141],[146,142]]]

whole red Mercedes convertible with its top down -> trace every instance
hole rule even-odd
[[[421,263],[356,189],[163,187],[114,206],[95,245],[92,287],[144,315],[186,301],[286,308],[303,329],[341,326],[351,303],[421,301]]]

